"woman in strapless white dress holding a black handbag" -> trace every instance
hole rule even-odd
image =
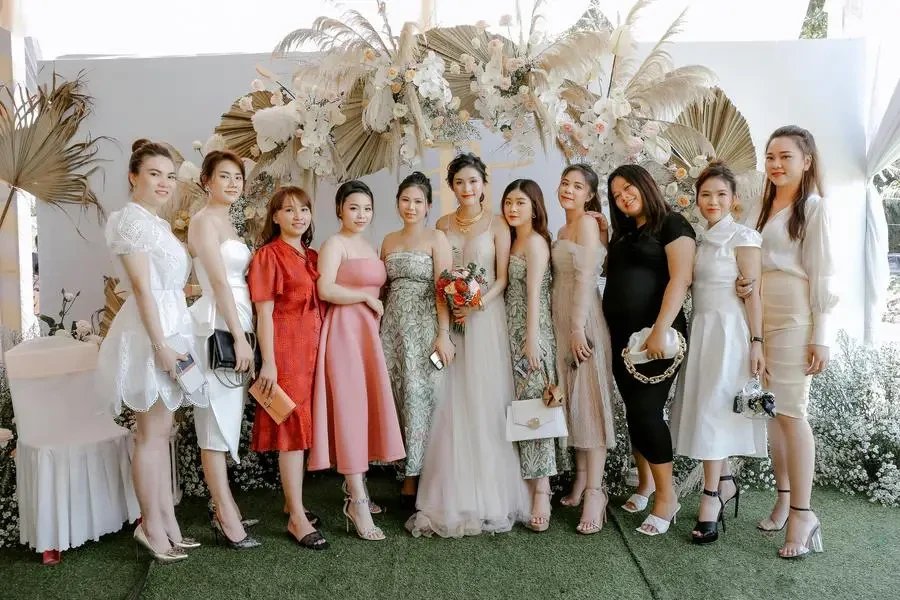
[[[231,152],[209,152],[203,159],[200,183],[207,201],[191,219],[188,249],[194,256],[203,295],[190,311],[209,384],[209,407],[194,410],[194,425],[203,474],[215,505],[212,527],[231,547],[246,549],[259,542],[244,531],[244,526],[252,523],[241,520],[225,464],[226,452],[239,461],[238,441],[247,397],[243,376],[254,368],[253,349],[245,336],[245,332],[253,331],[253,305],[245,276],[250,249],[238,237],[229,214],[244,190],[244,165]],[[237,372],[210,369],[208,340],[216,329],[234,337]]]

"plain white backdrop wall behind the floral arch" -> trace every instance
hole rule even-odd
[[[671,54],[679,65],[703,64],[719,75],[721,86],[747,118],[760,154],[768,135],[778,126],[795,123],[815,134],[841,238],[839,268],[841,281],[846,282],[843,326],[854,335],[860,334],[865,283],[862,42],[683,43],[674,45]],[[205,140],[212,133],[221,113],[248,90],[255,77],[254,65],[268,60],[267,55],[59,60],[44,63],[42,76],[47,80],[53,69],[66,77],[85,70],[88,90],[96,99],[87,130],[119,141],[119,147],[110,145],[104,153],[109,162],[105,166],[105,187],[99,189],[103,205],[111,211],[127,200],[126,163],[134,139],[165,140],[190,156],[191,142]],[[277,72],[290,71],[285,63],[270,66]],[[483,136],[481,152],[489,164],[517,160],[501,148],[501,141],[489,134]],[[431,152],[420,168],[436,170],[438,162],[437,152]],[[495,209],[499,207],[498,196],[510,180],[530,177],[544,189],[551,229],[555,231],[563,218],[554,194],[562,165],[562,157],[553,152],[546,157],[539,153],[528,166],[494,169],[490,186]],[[375,244],[398,227],[393,198],[396,183],[405,174],[383,171],[366,177],[376,196],[377,214],[370,232]],[[431,177],[437,187],[438,174]],[[320,184],[317,189],[319,242],[336,230],[334,190],[335,186],[328,184]],[[433,222],[439,203],[432,212]],[[79,238],[71,219],[79,223],[86,239]],[[102,305],[102,275],[111,272],[101,230],[90,219],[74,213],[67,216],[46,206],[39,207],[38,226],[42,289],[81,289],[82,297],[73,312],[77,317],[88,315]],[[42,301],[53,299],[42,297]],[[52,310],[53,304],[46,308]]]

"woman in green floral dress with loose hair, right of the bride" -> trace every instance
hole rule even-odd
[[[512,236],[506,324],[517,399],[540,398],[548,383],[545,378],[556,384],[556,340],[550,317],[550,234],[538,184],[530,179],[510,183],[503,193],[503,216]],[[518,442],[522,478],[532,494],[531,520],[526,526],[534,531],[550,526],[550,477],[557,473],[561,441]]]

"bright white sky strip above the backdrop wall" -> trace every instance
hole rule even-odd
[[[614,23],[624,19],[633,0],[601,0]],[[656,0],[645,10],[636,37],[658,38],[688,8],[683,41],[797,39],[808,0]],[[501,15],[515,15],[514,0],[426,0],[433,24],[474,24],[492,30]],[[548,0],[541,12],[549,33],[573,24],[589,0]],[[520,2],[527,20],[533,0]],[[292,29],[307,27],[320,15],[340,16],[343,8],[380,23],[375,0],[19,0],[19,26],[37,38],[42,58],[67,55],[166,56],[268,52]],[[422,0],[390,0],[391,27],[419,21]],[[512,35],[518,37],[517,31]]]

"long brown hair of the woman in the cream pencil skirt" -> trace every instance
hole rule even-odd
[[[819,168],[819,149],[816,147],[816,140],[812,134],[796,125],[787,125],[779,127],[766,142],[766,154],[769,153],[769,146],[775,138],[786,137],[791,138],[799,146],[800,152],[809,157],[809,169],[804,171],[803,178],[800,180],[800,189],[797,190],[797,197],[794,199],[794,205],[791,209],[791,216],[788,219],[788,236],[792,241],[802,240],[806,234],[806,199],[814,192],[820,196],[825,195],[825,189],[822,186],[822,174]],[[772,212],[772,204],[775,202],[775,184],[766,177],[766,183],[763,187],[762,207],[759,211],[759,219],[756,220],[756,230],[762,232],[763,227],[769,220],[769,213]]]

